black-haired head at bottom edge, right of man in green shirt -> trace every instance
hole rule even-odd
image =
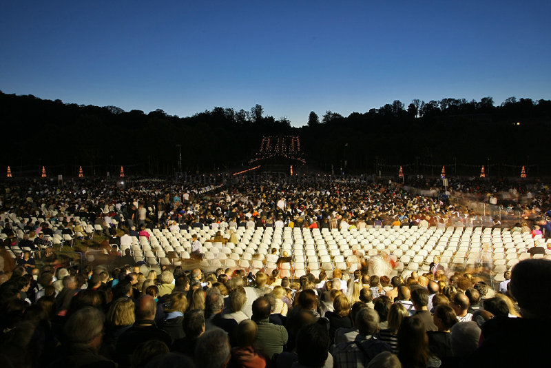
[[[320,323],[311,323],[298,331],[296,352],[302,366],[323,367],[329,356],[329,331]]]

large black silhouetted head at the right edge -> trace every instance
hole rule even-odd
[[[550,278],[550,260],[527,259],[514,265],[511,271],[510,292],[517,299],[525,318],[549,318],[551,294],[542,292],[539,281]]]

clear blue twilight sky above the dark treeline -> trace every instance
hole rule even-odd
[[[4,1],[0,90],[304,125],[399,99],[551,99],[551,1]]]

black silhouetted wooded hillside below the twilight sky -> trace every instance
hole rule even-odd
[[[438,174],[435,167],[455,163],[454,174],[475,175],[487,165],[489,176],[517,176],[520,165],[538,175],[551,168],[549,100],[393,101],[349,116],[311,112],[307,125],[293,127],[285,117],[264,116],[261,105],[179,117],[0,92],[0,116],[1,163],[14,176],[43,165],[66,176],[79,166],[87,176],[116,175],[121,165],[131,175],[172,175],[180,150],[183,172],[224,172],[247,167],[262,136],[278,134],[300,136],[309,169],[324,172],[391,174],[404,165],[406,174]]]

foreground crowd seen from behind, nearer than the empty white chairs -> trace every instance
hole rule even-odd
[[[146,269],[2,274],[1,367],[549,366],[550,260],[521,261],[501,292],[366,267],[299,280]]]

